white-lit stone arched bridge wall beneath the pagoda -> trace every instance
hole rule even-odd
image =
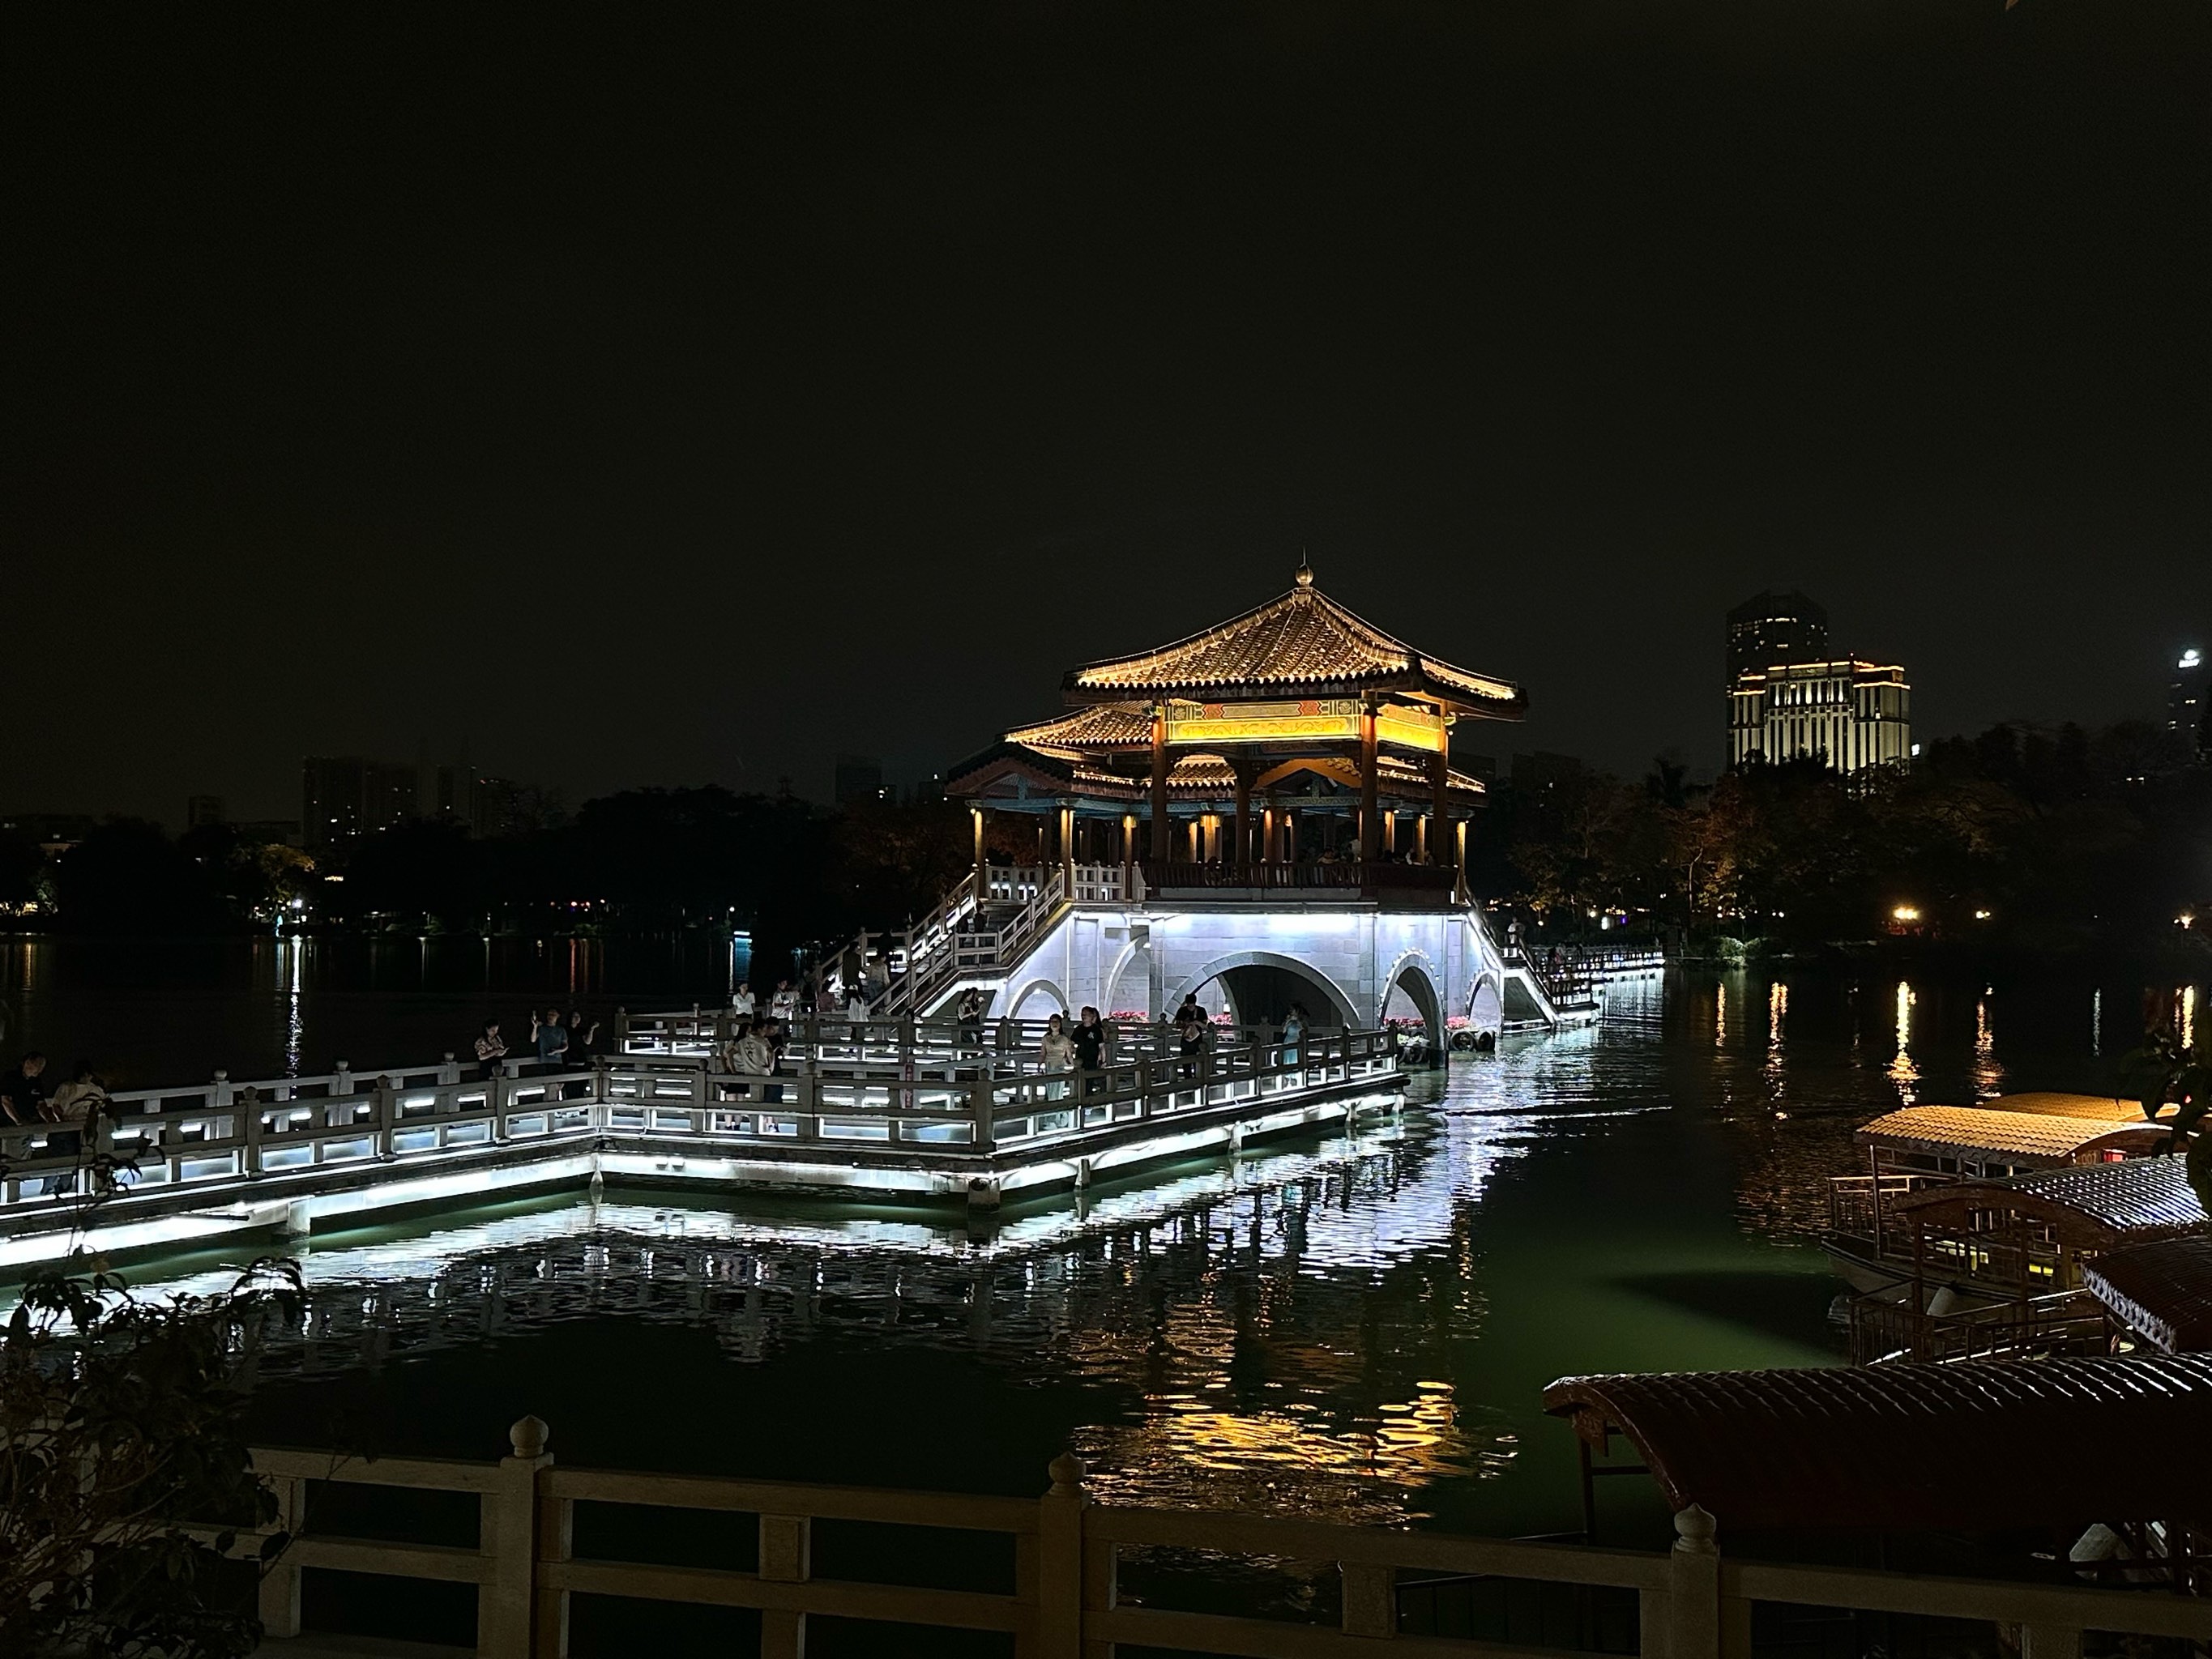
[[[1186,991],[1241,967],[1305,982],[1325,1024],[1374,1026],[1402,987],[1422,1020],[1500,1024],[1504,969],[1471,907],[1378,909],[1371,902],[1075,905],[1002,980],[991,1018],[1042,1018],[1093,1004],[1106,1013],[1172,1013]],[[947,993],[947,1002],[953,993]],[[1402,1009],[1400,1009],[1402,1011]]]

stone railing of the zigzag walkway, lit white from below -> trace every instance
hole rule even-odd
[[[1285,1051],[1263,1026],[1217,1026],[1194,1057],[1172,1026],[1133,1026],[1097,1071],[1044,1071],[1042,1024],[807,1022],[776,1075],[721,1071],[681,1015],[655,1015],[659,1053],[593,1071],[447,1082],[451,1062],[416,1073],[332,1073],[261,1084],[135,1091],[71,1128],[0,1128],[0,1223],[64,1212],[97,1194],[126,1219],[188,1188],[305,1188],[354,1168],[405,1179],[458,1155],[509,1148],[526,1161],[557,1141],[677,1137],[723,1150],[814,1148],[852,1157],[898,1150],[922,1161],[989,1161],[1000,1150],[1060,1152],[1124,1126],[1192,1113],[1265,1115],[1301,1097],[1385,1086],[1398,1071],[1389,1033],[1316,1031]],[[699,1020],[699,1015],[692,1015]],[[153,1110],[148,1110],[153,1106]],[[75,1141],[75,1146],[71,1146]]]

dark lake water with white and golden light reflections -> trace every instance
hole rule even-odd
[[[358,960],[268,942],[204,984],[51,949],[18,947],[15,1029],[95,1053],[113,1033],[164,1077],[447,1046],[487,998],[526,1006],[571,971],[566,947],[451,984],[367,953],[363,982]],[[717,989],[697,953],[591,947],[575,971],[613,1002],[624,969],[633,1006]],[[929,1210],[615,1190],[319,1234],[314,1334],[272,1367],[261,1429],[491,1458],[538,1413],[566,1462],[1024,1495],[1073,1449],[1110,1498],[1566,1531],[1575,1449],[1540,1409],[1548,1380],[1838,1363],[1818,1232],[1851,1128],[1900,1102],[2110,1091],[2141,993],[1674,971],[1615,987],[1595,1029],[1416,1077],[1391,1124],[1013,1210],[989,1234]],[[1601,1506],[1610,1535],[1663,1537],[1648,1482],[1608,1482]]]

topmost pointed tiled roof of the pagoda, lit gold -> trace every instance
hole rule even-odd
[[[1290,593],[1157,650],[1073,668],[1062,690],[1073,703],[1400,690],[1495,719],[1520,719],[1528,708],[1513,681],[1422,655],[1356,617],[1303,566]]]

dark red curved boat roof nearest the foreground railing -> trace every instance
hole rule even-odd
[[[1544,1409],[1723,1540],[2212,1515],[2212,1356],[1568,1376]]]

